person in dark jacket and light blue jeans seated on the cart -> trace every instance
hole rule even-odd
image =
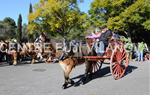
[[[98,56],[103,56],[104,52],[109,44],[113,33],[106,26],[101,28],[101,36],[97,39],[97,42],[94,44],[95,51]]]

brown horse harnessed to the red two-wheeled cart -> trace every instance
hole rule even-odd
[[[77,52],[74,53],[73,52],[74,48],[75,46],[71,46],[70,51],[68,53],[64,52],[62,54],[63,56],[61,56],[61,58],[59,59],[59,65],[61,66],[64,72],[65,82],[62,85],[63,89],[66,89],[69,84],[73,85],[75,83],[72,79],[70,79],[69,75],[76,65],[83,64],[83,63],[86,64],[86,70],[84,74],[85,77],[93,73],[93,69],[91,68],[91,66],[94,66],[95,63],[93,63],[92,61],[90,62],[85,60],[83,56],[96,55],[95,50],[90,49],[90,47],[88,46],[81,46],[80,44],[79,46],[76,47]]]

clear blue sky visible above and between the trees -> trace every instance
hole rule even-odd
[[[88,12],[90,8],[90,3],[93,0],[84,0],[83,3],[79,4],[81,11]],[[27,23],[27,16],[29,12],[29,4],[39,2],[39,0],[1,0],[0,2],[0,20],[5,17],[11,17],[16,22],[18,15],[21,14],[23,18],[23,23]]]

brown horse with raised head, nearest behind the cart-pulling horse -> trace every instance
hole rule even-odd
[[[41,33],[35,43],[39,45],[38,48],[41,51],[37,54],[38,59],[44,60],[45,63],[51,63],[56,56],[56,41],[48,38],[44,33]]]

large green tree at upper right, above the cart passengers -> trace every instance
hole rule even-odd
[[[150,31],[149,4],[149,0],[94,0],[89,11],[91,23],[105,24],[133,39],[144,40],[141,34]]]

